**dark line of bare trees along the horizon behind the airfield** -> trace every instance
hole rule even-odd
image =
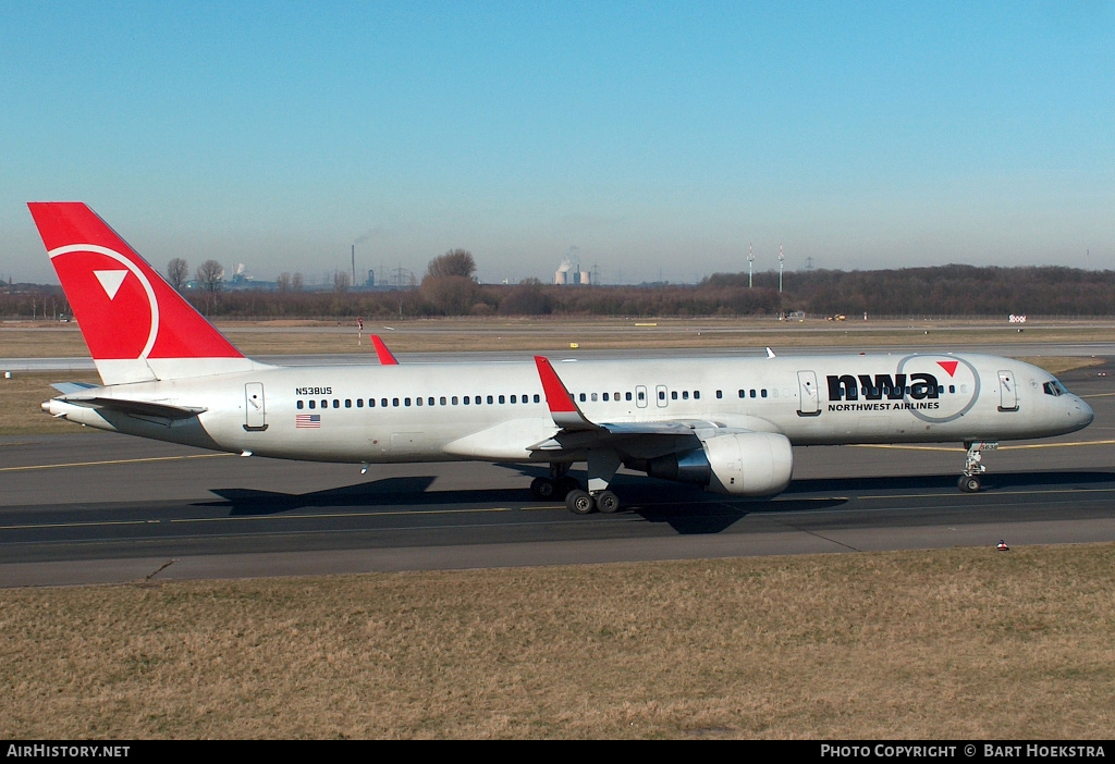
[[[168,264],[176,288],[184,288],[187,273],[184,262]],[[536,278],[479,284],[475,259],[465,249],[435,257],[410,290],[350,290],[346,277],[336,278],[332,291],[307,291],[301,274],[283,274],[275,290],[230,290],[216,273],[203,264],[196,288],[184,294],[206,315],[220,317],[777,316],[793,311],[814,317],[1115,315],[1115,271],[1061,266],[798,271],[784,274],[782,293],[774,271],[755,274],[754,286],[746,273],[717,273],[699,284],[558,286]],[[0,283],[2,316],[68,312],[59,287]]]

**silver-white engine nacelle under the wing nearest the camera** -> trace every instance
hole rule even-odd
[[[786,490],[794,451],[786,435],[773,432],[716,435],[704,448],[651,459],[647,474],[705,486],[717,493],[774,496]]]

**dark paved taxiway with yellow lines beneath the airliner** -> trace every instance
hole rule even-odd
[[[317,464],[125,435],[0,440],[0,586],[1115,541],[1115,369],[1063,376],[1082,432],[1004,443],[960,493],[959,444],[795,449],[772,500],[621,473],[628,507],[534,501],[544,468]]]

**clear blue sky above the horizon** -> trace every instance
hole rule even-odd
[[[1115,3],[0,0],[0,276],[26,202],[156,267],[603,282],[1115,268]]]

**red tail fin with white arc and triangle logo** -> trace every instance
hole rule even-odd
[[[28,207],[106,384],[198,376],[244,360],[85,204]]]

